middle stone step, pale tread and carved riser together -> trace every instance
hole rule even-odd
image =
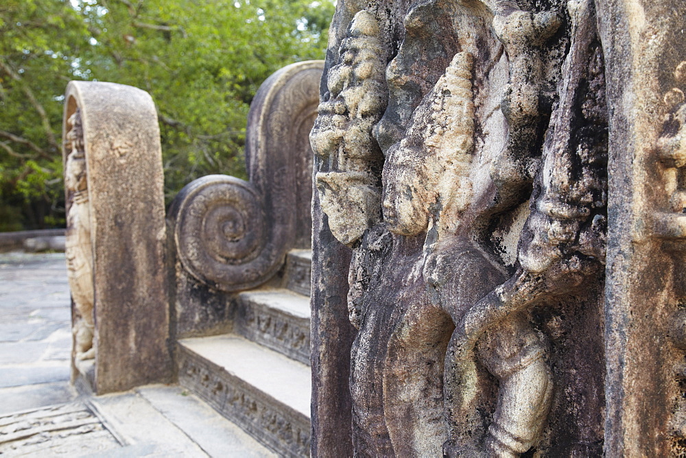
[[[309,365],[309,297],[283,288],[239,294],[235,333]]]

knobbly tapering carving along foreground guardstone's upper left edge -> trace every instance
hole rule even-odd
[[[316,175],[322,207],[332,216],[333,234],[346,244],[381,219],[383,156],[372,128],[386,108],[379,24],[363,10],[349,27],[311,136],[314,151],[329,162],[329,171]]]

